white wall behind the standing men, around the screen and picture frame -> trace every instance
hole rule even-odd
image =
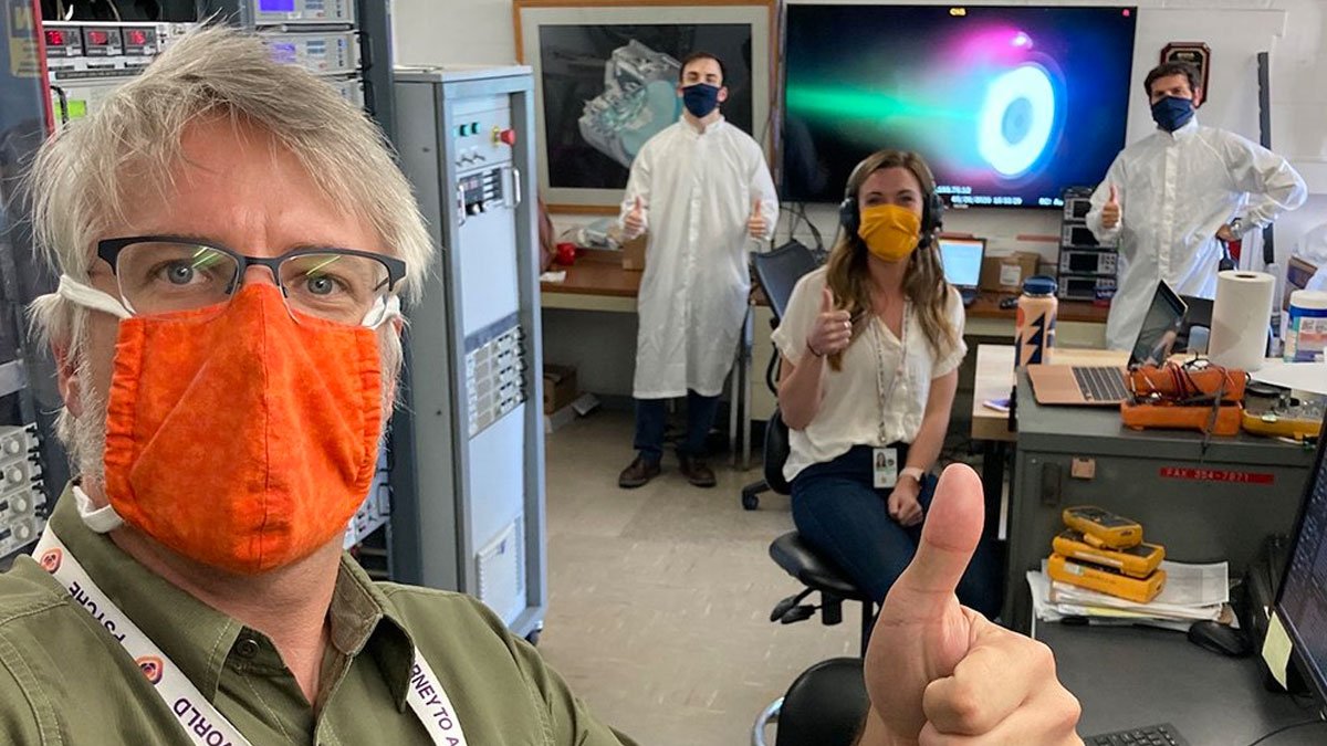
[[[819,0],[812,0],[819,1]],[[844,0],[829,0],[840,1]],[[936,0],[913,0],[914,3]],[[867,0],[863,4],[873,4]],[[880,0],[876,4],[890,4]],[[981,0],[978,4],[1119,5],[1099,0]],[[1206,41],[1213,53],[1213,102],[1200,119],[1257,139],[1257,61],[1266,49],[1273,60],[1273,147],[1304,175],[1315,195],[1277,226],[1278,254],[1285,255],[1312,226],[1327,222],[1327,3],[1322,0],[1133,0],[1139,33],[1133,78],[1141,80],[1168,41]],[[515,61],[511,0],[394,0],[395,54],[402,64]],[[1152,129],[1141,89],[1131,100],[1128,139]],[[1105,113],[1103,113],[1105,114]],[[811,210],[816,223],[832,232],[833,215]],[[568,224],[575,220],[557,220]],[[1022,242],[1019,235],[1048,235],[1058,230],[1054,211],[950,211],[946,227],[985,235],[994,251],[1040,250],[1050,244]],[[828,240],[828,236],[827,236]]]

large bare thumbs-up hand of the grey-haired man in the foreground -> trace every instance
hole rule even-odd
[[[958,604],[954,589],[982,532],[982,485],[945,470],[912,564],[885,597],[865,658],[863,745],[1082,746],[1080,708],[1046,645]]]

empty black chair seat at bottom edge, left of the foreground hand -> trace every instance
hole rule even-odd
[[[774,719],[774,709],[779,721],[774,746],[851,746],[869,708],[861,658],[820,661],[760,713],[751,743],[764,746],[764,726]]]

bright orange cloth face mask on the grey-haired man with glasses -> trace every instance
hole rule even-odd
[[[373,481],[382,415],[373,329],[296,323],[275,285],[215,309],[119,323],[106,495],[175,552],[238,573],[308,556]]]

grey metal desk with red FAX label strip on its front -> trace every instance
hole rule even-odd
[[[1180,561],[1230,563],[1238,577],[1265,536],[1294,527],[1314,453],[1241,433],[1135,431],[1113,408],[1039,406],[1018,380],[1005,620],[1028,628],[1023,573],[1040,567],[1064,507],[1096,504],[1143,524]]]

